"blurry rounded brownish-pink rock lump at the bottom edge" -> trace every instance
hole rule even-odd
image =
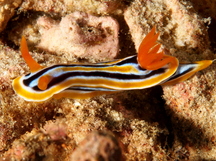
[[[71,161],[122,160],[118,141],[107,132],[89,134],[71,155]]]

